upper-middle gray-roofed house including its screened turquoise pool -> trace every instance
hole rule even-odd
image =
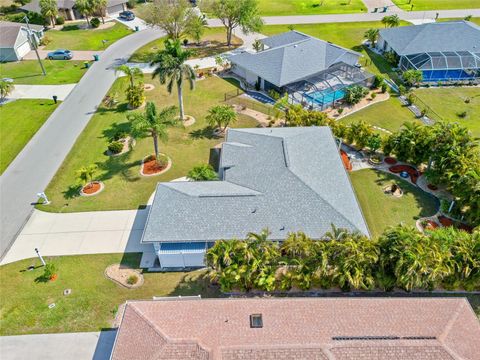
[[[258,53],[229,58],[232,72],[248,85],[288,93],[292,102],[320,108],[342,100],[344,89],[370,86],[373,75],[360,69],[360,53],[298,31],[260,40]]]

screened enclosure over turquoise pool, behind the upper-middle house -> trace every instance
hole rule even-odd
[[[374,78],[359,67],[338,63],[319,74],[287,85],[285,91],[291,103],[302,104],[312,110],[324,110],[342,101],[349,86],[370,87]]]

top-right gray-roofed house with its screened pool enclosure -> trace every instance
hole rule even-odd
[[[422,71],[424,82],[480,79],[480,26],[469,21],[383,29],[376,46],[401,70]]]

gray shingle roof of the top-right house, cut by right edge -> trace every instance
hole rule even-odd
[[[480,53],[480,26],[469,21],[383,29],[380,36],[398,55],[440,51]]]

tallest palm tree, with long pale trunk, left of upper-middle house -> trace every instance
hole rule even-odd
[[[185,113],[183,109],[183,82],[186,80],[190,85],[190,89],[195,87],[195,71],[192,67],[185,62],[191,52],[182,49],[180,41],[166,40],[165,50],[159,51],[151,65],[156,65],[152,78],[158,76],[162,85],[167,84],[167,90],[171,94],[173,86],[177,85],[178,91],[178,104],[180,107],[180,119],[185,119]]]

